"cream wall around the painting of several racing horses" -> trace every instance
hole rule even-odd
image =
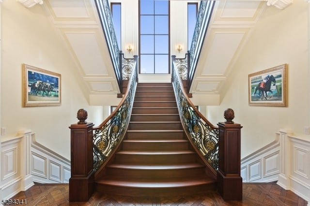
[[[25,8],[16,0],[6,0],[1,7],[1,127],[8,135],[31,129],[39,143],[70,159],[68,127],[78,122],[78,109],[85,108],[87,120],[95,125],[109,115],[109,109],[88,106],[74,72],[76,65],[42,6]],[[62,75],[61,106],[22,107],[22,63]]]

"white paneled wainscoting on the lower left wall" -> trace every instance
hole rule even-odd
[[[0,194],[10,199],[34,183],[68,183],[71,163],[35,141],[31,130],[1,139]]]

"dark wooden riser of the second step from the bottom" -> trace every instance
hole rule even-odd
[[[139,170],[126,168],[107,168],[109,176],[123,176],[133,178],[180,178],[180,177],[195,177],[204,174],[204,169],[189,168],[182,170],[166,169],[166,170]]]

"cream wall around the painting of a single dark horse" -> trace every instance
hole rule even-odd
[[[309,126],[309,3],[295,0],[284,10],[267,7],[254,29],[240,59],[227,80],[220,106],[208,106],[211,122],[223,121],[223,111],[233,108],[234,121],[243,126],[242,157],[270,143],[279,129],[298,136]],[[248,74],[288,64],[288,107],[248,105]]]

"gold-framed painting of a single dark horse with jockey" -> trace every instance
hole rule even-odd
[[[248,74],[250,106],[287,106],[287,64]]]

